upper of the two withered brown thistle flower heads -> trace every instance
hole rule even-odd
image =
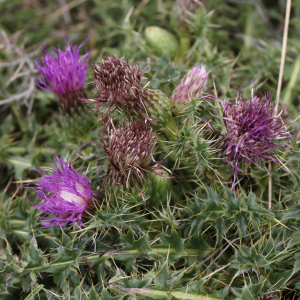
[[[141,80],[146,78],[144,70],[139,70],[135,62],[130,65],[117,56],[109,56],[100,64],[94,64],[93,68],[95,90],[98,96],[96,99],[85,99],[85,101],[97,104],[95,112],[102,105],[108,104],[109,108],[103,117],[120,108],[130,116],[132,114],[142,115],[154,122],[147,116],[145,108],[146,103],[151,105],[152,99],[149,97],[148,90],[141,83]],[[102,113],[101,110],[100,113]]]

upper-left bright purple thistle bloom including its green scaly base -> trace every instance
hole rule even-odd
[[[55,94],[62,113],[60,122],[66,136],[70,140],[85,139],[94,122],[79,98],[87,97],[84,81],[90,53],[80,55],[80,49],[85,42],[79,46],[70,45],[65,38],[65,43],[65,51],[59,45],[48,53],[47,47],[42,46],[42,62],[35,59],[41,75],[38,77],[38,86]]]

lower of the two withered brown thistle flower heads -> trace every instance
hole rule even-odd
[[[109,146],[104,150],[108,154],[110,167],[106,176],[111,175],[116,184],[126,183],[127,187],[128,184],[136,184],[139,188],[138,181],[145,178],[147,171],[156,173],[156,169],[164,168],[153,158],[157,136],[144,121],[113,128],[108,139]],[[151,162],[154,165],[150,166]]]

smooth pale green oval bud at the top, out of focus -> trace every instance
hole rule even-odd
[[[145,38],[158,56],[162,56],[165,52],[171,59],[174,59],[179,52],[176,37],[166,29],[158,26],[149,26],[145,30]]]

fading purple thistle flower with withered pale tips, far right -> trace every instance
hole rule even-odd
[[[283,122],[280,113],[275,112],[275,105],[271,103],[271,94],[256,94],[252,89],[252,97],[243,98],[242,87],[238,91],[235,104],[229,101],[217,99],[222,105],[223,116],[218,116],[224,121],[225,130],[221,134],[220,141],[222,154],[226,162],[233,167],[235,185],[237,173],[246,173],[241,164],[246,168],[252,164],[265,170],[261,165],[267,161],[273,161],[280,165],[277,157],[279,149],[294,151],[286,147],[293,137],[291,131],[286,130],[288,121]],[[211,125],[208,123],[211,127]],[[214,130],[214,129],[213,129]],[[217,133],[216,130],[214,130]],[[286,142],[280,143],[282,140]]]

